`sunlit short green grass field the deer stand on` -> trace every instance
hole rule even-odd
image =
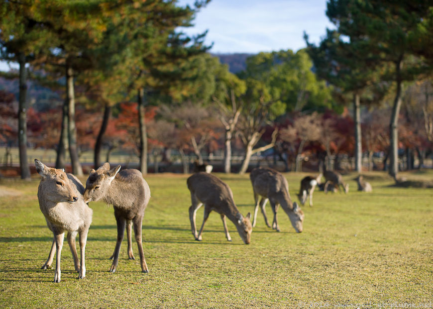
[[[248,175],[219,174],[246,215],[253,211]],[[285,174],[294,200],[301,173]],[[71,252],[62,251],[62,281],[41,270],[52,234],[36,197],[39,177],[0,183],[0,308],[432,308],[433,189],[397,188],[382,173],[368,174],[372,193],[315,192],[304,232],[279,212],[281,232],[259,213],[251,244],[211,213],[203,241],[188,217],[186,175],[149,175],[152,198],[143,220],[149,274],[127,259],[126,242],[109,273],[116,228],[111,207],[90,203],[87,276],[78,280]],[[433,173],[411,175],[432,180]],[[85,178],[82,179],[85,181]],[[267,206],[268,215],[270,207]],[[203,214],[198,213],[198,224]],[[54,265],[54,264],[53,264]],[[417,307],[415,307],[417,306]],[[429,307],[430,306],[430,307]]]

